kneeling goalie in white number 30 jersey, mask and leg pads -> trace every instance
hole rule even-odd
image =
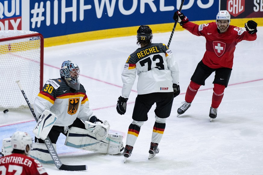
[[[118,154],[123,149],[122,136],[108,134],[108,121],[99,120],[89,108],[79,74],[77,64],[64,61],[61,78],[49,79],[34,101],[39,121],[33,130],[36,138],[30,156],[42,163],[53,163],[43,141],[47,135],[54,146],[62,133],[66,146],[105,154]]]

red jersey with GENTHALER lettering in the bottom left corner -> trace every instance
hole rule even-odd
[[[39,161],[16,153],[0,158],[0,174],[48,175]]]

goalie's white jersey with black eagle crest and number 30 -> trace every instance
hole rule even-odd
[[[37,117],[45,109],[57,115],[56,126],[69,126],[76,118],[86,121],[93,116],[83,85],[80,84],[80,89],[75,90],[63,78],[49,79],[36,97],[33,107]]]

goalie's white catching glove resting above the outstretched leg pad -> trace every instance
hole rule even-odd
[[[89,121],[85,121],[84,123],[86,129],[94,133],[97,140],[104,140],[108,136],[110,124],[107,120],[103,121],[103,123],[96,122],[99,124],[94,124]]]

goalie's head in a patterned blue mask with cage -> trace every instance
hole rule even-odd
[[[80,75],[80,68],[77,64],[73,63],[72,61],[64,61],[62,63],[60,69],[61,78],[64,78],[67,85],[69,85],[70,87],[76,90],[80,89],[80,82],[78,79],[79,75]]]

